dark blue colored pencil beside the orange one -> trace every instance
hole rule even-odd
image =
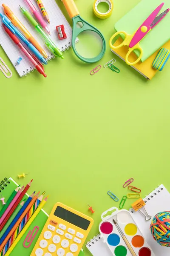
[[[3,236],[0,238],[0,244],[2,244],[3,240],[8,235],[9,231],[14,227],[14,224],[18,221],[18,219],[20,218],[21,214],[25,211],[25,209],[28,206],[28,204],[30,204],[34,194],[35,194],[35,192],[32,193],[32,195],[30,195],[30,197],[27,199],[26,203],[23,205],[23,207],[20,209],[20,211],[17,213],[17,215],[15,216],[13,221],[11,222],[11,224],[9,224],[9,226],[7,227],[7,229],[4,232]]]

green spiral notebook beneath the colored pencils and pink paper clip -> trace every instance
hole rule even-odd
[[[10,182],[9,184],[7,182],[5,182],[5,185],[2,185],[2,183],[4,184],[4,180],[0,182],[0,194],[3,194],[3,197],[5,197],[5,201],[8,200],[8,198],[10,197],[11,193],[17,188],[18,184],[12,179],[9,178],[8,181]],[[24,198],[28,198],[28,194],[25,195]],[[23,200],[22,200],[23,201]],[[0,204],[0,210],[2,209],[3,205]],[[48,214],[42,209],[40,211],[40,213],[37,215],[37,217],[34,219],[34,221],[32,222],[32,224],[30,225],[30,227],[28,228],[28,230],[26,231],[26,233],[24,234],[24,236],[20,239],[20,241],[18,242],[18,244],[16,245],[16,247],[14,248],[14,250],[10,253],[10,256],[30,256],[34,245],[37,242],[38,237],[40,236],[40,233],[46,223],[48,219]],[[33,230],[35,226],[39,227],[39,231],[37,233],[37,235],[35,236],[34,241],[32,242],[31,246],[29,248],[25,248],[23,247],[23,242],[26,239],[26,236],[28,235],[29,230]],[[3,234],[3,230],[0,233],[0,235]],[[57,255],[55,253],[55,255]],[[83,256],[83,250],[79,253],[79,256]]]

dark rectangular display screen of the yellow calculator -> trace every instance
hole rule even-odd
[[[79,215],[70,212],[60,206],[57,206],[54,215],[70,222],[71,224],[74,224],[77,227],[82,228],[83,230],[87,230],[88,226],[90,225],[90,221],[88,221],[85,218],[80,217]]]

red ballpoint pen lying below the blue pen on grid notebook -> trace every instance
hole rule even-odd
[[[28,57],[28,59],[32,62],[36,70],[43,75],[44,77],[47,77],[47,75],[44,72],[44,67],[42,64],[36,59],[34,55],[31,55],[27,49],[21,44],[20,40],[14,35],[11,30],[9,30],[4,24],[3,28],[5,29],[6,33],[10,36],[10,38],[14,41],[14,43],[25,53],[25,55]]]

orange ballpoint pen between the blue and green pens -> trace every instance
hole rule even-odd
[[[25,37],[31,42],[31,44],[34,45],[34,47],[37,48],[37,50],[45,57],[47,57],[47,54],[45,53],[44,49],[40,46],[40,44],[34,39],[34,37],[28,32],[28,30],[25,28],[25,26],[20,22],[20,20],[17,19],[17,17],[14,15],[14,13],[9,9],[8,6],[6,6],[4,3],[2,4],[4,8],[5,15],[11,20],[11,22],[19,28]]]

